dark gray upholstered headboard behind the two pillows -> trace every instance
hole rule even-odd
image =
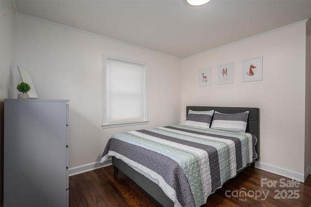
[[[249,132],[255,135],[258,139],[257,144],[255,146],[257,152],[257,159],[259,160],[259,152],[260,152],[260,128],[259,128],[259,108],[248,108],[248,107],[219,107],[219,106],[187,106],[187,115],[189,109],[193,111],[209,111],[215,110],[220,113],[232,114],[232,113],[240,113],[244,111],[249,111],[246,132]]]

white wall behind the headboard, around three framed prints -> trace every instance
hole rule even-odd
[[[260,108],[257,167],[302,181],[305,173],[306,23],[300,22],[182,60],[182,121],[187,105]],[[242,82],[242,60],[263,56],[263,80]],[[233,62],[234,83],[217,85]],[[211,86],[198,70],[211,67]],[[309,106],[308,106],[309,107]]]

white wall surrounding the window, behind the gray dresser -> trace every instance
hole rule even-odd
[[[181,59],[24,16],[15,26],[15,68],[30,70],[40,99],[70,100],[71,173],[98,162],[112,134],[180,123]],[[102,129],[103,53],[148,63],[149,124]]]

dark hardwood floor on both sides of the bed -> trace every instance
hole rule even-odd
[[[113,166],[69,177],[69,207],[160,206],[121,171],[114,175]],[[210,195],[202,207],[238,206],[311,207],[311,175],[299,183],[248,167]]]

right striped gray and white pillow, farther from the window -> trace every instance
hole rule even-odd
[[[236,114],[223,114],[215,111],[211,128],[245,133],[249,111]]]

